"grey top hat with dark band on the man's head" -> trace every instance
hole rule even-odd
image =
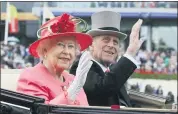
[[[121,15],[113,11],[101,11],[91,16],[91,30],[87,34],[94,36],[113,35],[125,40],[127,35],[120,32]]]

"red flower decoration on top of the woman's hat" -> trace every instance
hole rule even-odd
[[[50,26],[53,33],[74,32],[74,22],[70,20],[70,15],[64,13],[58,22]]]

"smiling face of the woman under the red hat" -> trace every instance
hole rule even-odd
[[[76,58],[76,40],[74,37],[60,37],[52,47],[47,50],[46,60],[52,67],[68,69]]]

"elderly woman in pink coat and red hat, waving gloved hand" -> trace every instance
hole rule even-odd
[[[21,73],[17,92],[44,98],[46,104],[88,105],[83,90],[92,65],[88,52],[81,57],[75,78],[65,71],[92,43],[91,36],[76,32],[75,20],[65,13],[42,25],[37,32],[40,39],[29,47],[41,62]]]

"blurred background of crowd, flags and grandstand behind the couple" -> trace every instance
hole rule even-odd
[[[90,29],[91,14],[103,10],[121,13],[121,31],[128,36],[138,18],[144,20],[140,36],[147,41],[136,57],[141,67],[128,80],[128,88],[177,102],[177,2],[1,2],[1,69],[23,69],[38,62],[28,46],[45,21],[67,12],[84,19]],[[129,38],[122,54],[128,43]]]

